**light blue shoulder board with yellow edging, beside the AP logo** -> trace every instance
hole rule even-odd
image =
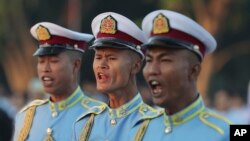
[[[232,122],[225,117],[211,111],[201,112],[199,114],[199,118],[204,124],[206,124],[210,128],[213,128],[222,135],[224,134],[225,128],[228,128],[229,130],[229,125],[232,124]]]

